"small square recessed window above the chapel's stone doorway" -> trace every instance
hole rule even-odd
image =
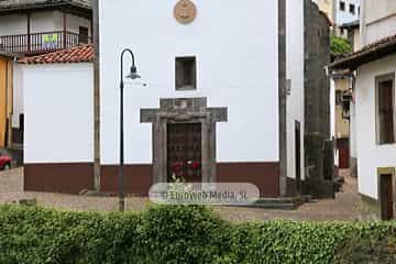
[[[197,63],[195,57],[176,58],[176,90],[197,89]]]

